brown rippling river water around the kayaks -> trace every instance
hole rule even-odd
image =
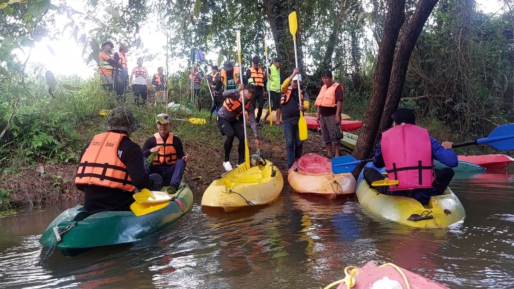
[[[514,288],[514,175],[454,179],[467,216],[450,229],[413,229],[369,215],[357,200],[285,190],[233,213],[200,196],[172,227],[133,244],[38,265],[38,240],[61,204],[0,219],[0,288],[319,288],[347,265],[393,262],[450,288]]]

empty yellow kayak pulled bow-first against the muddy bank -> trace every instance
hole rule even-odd
[[[269,204],[279,198],[284,178],[271,161],[265,165],[236,167],[214,180],[205,190],[201,205],[231,212],[243,207]]]

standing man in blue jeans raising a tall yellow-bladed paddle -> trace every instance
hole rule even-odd
[[[295,68],[291,76],[282,83],[282,99],[277,108],[279,123],[282,116],[288,168],[291,168],[295,164],[295,160],[302,156],[303,141],[300,140],[298,121],[300,120],[300,111],[306,111],[304,104],[309,103],[303,91],[301,92],[303,103],[299,103],[298,86],[302,86],[302,76],[298,74],[299,71],[298,68]]]

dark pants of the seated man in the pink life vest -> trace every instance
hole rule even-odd
[[[395,196],[408,196],[414,198],[422,205],[427,205],[430,201],[431,196],[442,195],[455,174],[451,168],[442,168],[435,170],[435,182],[432,184],[432,188],[429,189],[414,189],[414,190],[402,190],[402,191],[390,191],[389,186],[373,187],[371,184],[376,180],[382,180],[386,178],[379,171],[373,168],[364,168],[364,179],[368,185],[377,190],[378,192],[386,195]]]

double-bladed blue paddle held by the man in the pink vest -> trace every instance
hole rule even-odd
[[[514,150],[514,123],[500,125],[495,128],[486,138],[479,138],[471,141],[454,143],[452,148],[460,148],[472,145],[489,144],[501,151]],[[343,174],[352,172],[358,165],[370,162],[373,158],[356,160],[351,155],[339,156],[332,159],[332,173]]]

